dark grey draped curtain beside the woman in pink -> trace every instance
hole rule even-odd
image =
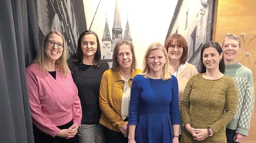
[[[35,8],[0,0],[0,143],[34,143],[25,67],[39,50]]]

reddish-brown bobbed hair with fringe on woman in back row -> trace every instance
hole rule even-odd
[[[185,64],[185,62],[188,60],[188,44],[185,40],[185,38],[180,34],[172,34],[164,43],[164,47],[167,50],[169,50],[169,45],[181,45],[183,46],[183,53],[180,57],[180,64]]]

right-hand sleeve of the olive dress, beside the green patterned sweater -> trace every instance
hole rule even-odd
[[[235,81],[230,79],[227,81],[227,89],[226,89],[226,101],[225,101],[225,111],[224,113],[216,120],[215,123],[210,125],[209,127],[213,130],[213,132],[219,132],[225,127],[228,122],[234,118],[236,113],[236,107],[238,102],[238,91],[236,88]]]

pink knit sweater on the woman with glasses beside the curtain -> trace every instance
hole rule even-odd
[[[55,137],[60,132],[57,126],[72,119],[81,126],[82,109],[70,71],[65,77],[56,69],[55,80],[34,63],[26,68],[26,75],[32,122],[37,128]]]

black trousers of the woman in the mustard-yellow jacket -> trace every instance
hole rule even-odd
[[[125,138],[121,132],[116,132],[103,126],[103,132],[106,137],[106,143],[128,143],[128,138]]]

